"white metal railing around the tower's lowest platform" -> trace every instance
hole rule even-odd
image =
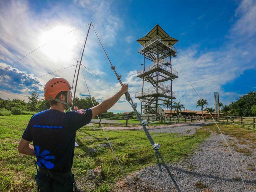
[[[151,95],[151,94],[155,94],[155,93],[167,95],[169,97],[175,97],[175,92],[170,90],[170,86],[166,86],[166,87],[167,87],[167,89],[164,89],[162,87],[152,87],[152,88],[149,88],[149,89],[144,89],[144,90],[141,90],[141,91],[137,91],[135,93],[135,97],[146,96],[146,95]]]

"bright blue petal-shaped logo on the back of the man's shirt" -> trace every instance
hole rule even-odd
[[[50,161],[47,161],[48,159],[55,159],[54,155],[48,156],[48,154],[50,154],[50,152],[48,150],[45,150],[40,154],[40,148],[38,145],[36,145],[35,154],[36,154],[36,158],[37,158],[36,164],[39,167],[42,167],[41,164],[43,164],[47,169],[51,169],[52,167],[54,167],[53,163],[51,163]]]

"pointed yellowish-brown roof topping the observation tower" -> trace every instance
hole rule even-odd
[[[153,29],[151,29],[151,31],[145,37],[142,37],[142,38],[138,39],[137,41],[141,45],[144,45],[147,41],[151,40],[152,38],[154,38],[157,35],[159,37],[161,37],[164,41],[167,41],[167,42],[170,41],[170,44],[172,44],[172,45],[174,45],[176,42],[178,42],[177,39],[170,37],[164,31],[164,29],[162,29],[162,27],[160,27],[158,24],[156,24],[156,26]]]

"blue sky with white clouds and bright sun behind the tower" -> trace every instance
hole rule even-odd
[[[173,91],[176,101],[181,101],[186,109],[196,110],[198,97],[175,64],[200,96],[208,100],[209,106],[214,106],[214,91],[219,91],[221,102],[229,104],[256,89],[256,12],[251,12],[256,10],[253,6],[256,1],[74,0],[1,1],[0,4],[0,72],[49,42],[1,75],[1,92],[76,62],[89,26],[64,34],[90,22],[122,61],[101,39],[116,71],[122,75],[121,80],[129,84],[133,98],[142,86],[142,80],[136,77],[143,62],[143,56],[137,52],[140,44],[136,39],[145,36],[156,24],[179,40],[175,44],[178,56],[173,59],[179,78],[173,81]],[[218,18],[210,20],[215,17]],[[205,23],[200,24],[202,22]],[[82,69],[90,93],[99,101],[119,90],[120,85],[92,29],[82,63],[114,87]],[[33,91],[43,97],[44,84],[59,72],[18,86],[0,97],[26,100],[26,95]],[[72,82],[73,73],[74,67],[70,67],[58,76]],[[82,72],[77,89],[78,97],[89,95]],[[122,97],[111,110],[132,109]]]

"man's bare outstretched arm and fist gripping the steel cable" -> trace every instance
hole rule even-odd
[[[109,99],[104,100],[101,104],[92,107],[92,117],[97,116],[98,114],[101,114],[105,111],[108,111],[120,98],[121,96],[126,93],[128,90],[128,85],[123,84],[120,91],[116,93],[114,96],[112,96]]]

